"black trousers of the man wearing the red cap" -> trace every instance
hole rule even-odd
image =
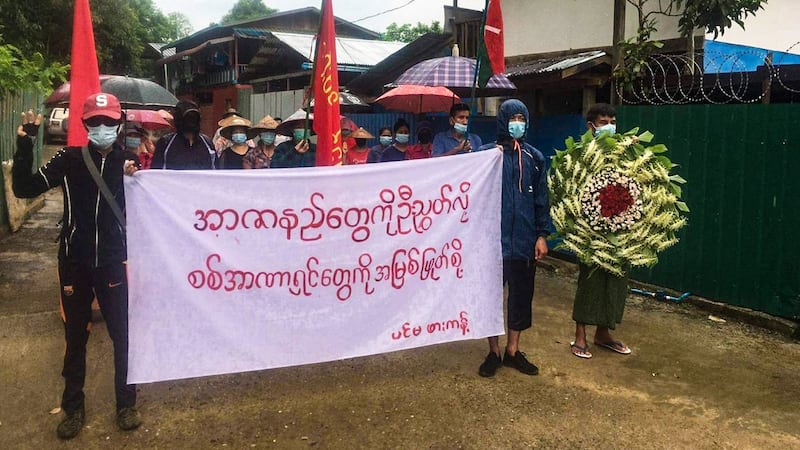
[[[59,261],[61,317],[67,350],[64,355],[64,394],[61,408],[72,412],[83,405],[86,378],[86,342],[92,320],[92,300],[97,296],[108,334],[114,344],[114,388],[117,410],[136,404],[136,386],[128,377],[128,281],[122,263],[92,268],[88,264]]]

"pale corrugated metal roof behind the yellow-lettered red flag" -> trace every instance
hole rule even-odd
[[[259,28],[235,28],[234,31],[242,37],[249,38],[272,35],[306,59],[310,58],[313,53],[313,34],[286,33]],[[336,61],[339,64],[371,67],[405,46],[405,42],[337,37]]]

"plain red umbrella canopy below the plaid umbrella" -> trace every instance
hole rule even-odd
[[[375,102],[387,109],[422,114],[449,111],[461,99],[444,86],[404,84],[384,93]]]

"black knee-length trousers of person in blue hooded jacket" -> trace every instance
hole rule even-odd
[[[508,285],[508,329],[527,330],[533,324],[533,281],[536,261],[503,260],[503,284]]]

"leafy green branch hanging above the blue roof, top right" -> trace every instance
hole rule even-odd
[[[705,27],[706,33],[725,34],[734,23],[744,29],[744,19],[764,9],[767,0],[674,0],[683,13],[678,21],[681,33],[691,36],[695,28]]]

